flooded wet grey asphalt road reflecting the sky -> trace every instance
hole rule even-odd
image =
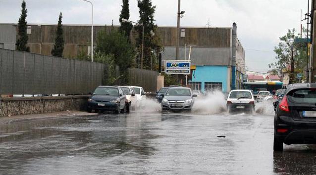
[[[0,174],[308,175],[316,147],[273,154],[273,115],[159,111],[0,125]]]

